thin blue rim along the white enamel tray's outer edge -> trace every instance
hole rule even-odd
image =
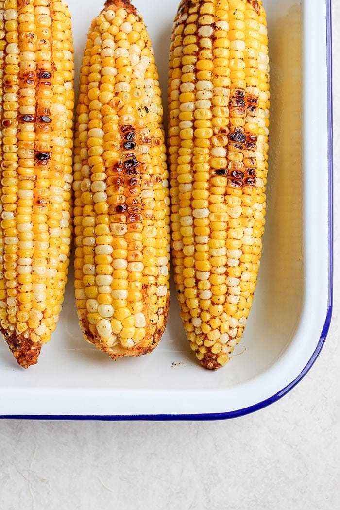
[[[184,414],[184,415],[133,415],[133,416],[68,416],[68,415],[6,415],[0,416],[3,419],[32,419],[32,420],[102,420],[102,421],[136,421],[136,420],[149,420],[149,421],[169,421],[169,420],[226,420],[237,418],[246,414],[254,413],[267,405],[270,405],[288,392],[290,392],[300,380],[307,374],[313,364],[316,362],[321,349],[324,346],[330,322],[332,317],[333,308],[333,100],[332,100],[332,17],[331,17],[331,0],[326,0],[326,24],[327,24],[327,73],[328,73],[328,86],[327,86],[327,111],[328,111],[328,174],[329,174],[329,212],[328,212],[328,225],[329,225],[329,275],[328,275],[328,304],[327,315],[325,323],[321,332],[320,340],[317,348],[313,352],[307,365],[302,372],[294,379],[289,385],[283,388],[270,398],[258,402],[244,409],[237,411],[230,411],[227,413],[211,413],[211,414]]]

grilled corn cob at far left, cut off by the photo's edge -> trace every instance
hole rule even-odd
[[[70,248],[73,47],[63,0],[0,2],[0,329],[37,363]]]

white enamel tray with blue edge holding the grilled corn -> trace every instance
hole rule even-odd
[[[0,346],[0,416],[78,419],[216,419],[270,404],[297,384],[327,335],[332,292],[330,0],[265,0],[271,58],[271,155],[263,259],[253,308],[232,360],[196,363],[175,293],[154,352],[112,362],[80,333],[70,275],[53,339],[21,369]],[[167,93],[178,0],[135,0]],[[76,73],[101,2],[69,0]],[[72,271],[71,271],[72,274]]]

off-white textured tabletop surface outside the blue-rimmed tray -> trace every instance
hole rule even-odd
[[[338,508],[339,19],[333,0],[334,310],[316,365],[279,402],[230,421],[0,421],[1,510]]]

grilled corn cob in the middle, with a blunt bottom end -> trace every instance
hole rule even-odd
[[[108,1],[81,69],[74,157],[75,297],[112,359],[159,342],[169,303],[170,199],[158,73],[142,17]]]

